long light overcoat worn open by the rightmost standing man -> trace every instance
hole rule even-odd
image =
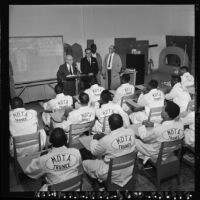
[[[107,75],[107,62],[108,62],[109,54],[105,56],[102,73],[106,75],[106,88],[108,88],[108,75]],[[111,69],[111,90],[116,90],[120,86],[120,71],[122,68],[122,61],[118,54],[114,53],[112,60],[112,69]]]

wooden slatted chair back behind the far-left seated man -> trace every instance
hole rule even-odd
[[[17,149],[26,148],[38,144],[38,152],[39,152],[42,150],[41,137],[40,137],[40,132],[37,131],[36,133],[32,134],[12,136],[12,138],[13,138],[13,150],[14,150],[14,169],[17,181],[19,181],[17,173],[17,159],[18,159]]]

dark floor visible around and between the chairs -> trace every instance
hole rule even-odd
[[[166,77],[165,74],[151,74],[145,77],[145,83],[147,83],[151,78],[155,78],[159,81],[168,81],[169,76]],[[26,105],[26,108],[32,108],[37,110],[38,113],[42,112],[42,107],[39,102],[33,102]],[[38,114],[39,125],[42,126],[41,115]],[[38,191],[41,187],[40,180],[27,179],[23,183],[17,183],[16,176],[14,173],[13,162],[10,162],[10,191],[11,192],[23,192],[23,191]],[[194,191],[194,171],[191,167],[182,163],[181,173],[180,173],[180,185],[177,185],[176,179],[172,178],[161,183],[161,191]],[[151,181],[138,173],[136,191],[155,191],[156,187]],[[83,177],[83,191],[93,191],[92,186],[86,176]]]

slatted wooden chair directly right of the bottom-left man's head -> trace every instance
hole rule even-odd
[[[86,131],[89,132],[89,135],[91,135],[92,127],[95,123],[95,120],[91,122],[86,122],[83,124],[71,124],[70,130],[69,130],[69,147],[76,147],[80,149],[81,144],[78,140],[78,137],[83,135]]]

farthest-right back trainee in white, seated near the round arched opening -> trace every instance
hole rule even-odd
[[[194,86],[194,77],[189,73],[188,67],[180,67],[181,84],[184,87]]]

